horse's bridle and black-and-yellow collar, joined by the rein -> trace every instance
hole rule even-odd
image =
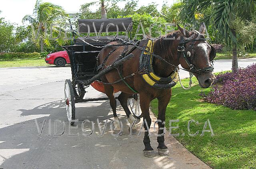
[[[199,34],[199,32],[196,30],[191,30],[191,31],[195,31],[196,33]],[[188,64],[188,66],[190,67],[189,70],[183,69],[185,71],[190,72],[190,81],[191,81],[193,74],[200,75],[202,73],[212,72],[214,69],[213,66],[204,67],[202,69],[196,69],[196,66],[192,64],[192,59],[196,58],[194,43],[196,41],[206,41],[207,39],[206,38],[196,38],[196,39],[185,40],[184,37],[182,37],[182,36],[180,38],[181,38],[180,43],[179,43],[178,49],[177,49],[178,60],[180,59],[180,57],[183,57],[185,59],[186,63]],[[192,41],[192,44],[189,46],[188,49],[186,49],[185,44],[188,42],[191,42],[191,41]],[[155,55],[153,53],[153,47],[154,47],[154,41],[152,39],[148,39],[147,45],[142,49],[142,53],[140,55],[140,68],[139,68],[140,71],[139,72],[142,75],[142,78],[144,79],[144,81],[146,81],[146,83],[148,83],[150,86],[153,86],[155,88],[160,88],[160,89],[172,88],[173,86],[176,85],[176,83],[179,80],[178,67],[168,63],[162,57]],[[210,53],[209,59],[213,65],[213,59],[214,59],[214,57],[216,57],[216,49],[212,45],[210,45],[210,47],[211,47],[211,53]],[[192,50],[192,53],[189,51],[190,49]],[[185,54],[185,51],[187,52],[187,54]],[[156,57],[162,61],[165,61],[169,65],[176,67],[175,70],[172,72],[172,74],[169,77],[167,77],[167,78],[159,77],[154,73],[154,69],[153,69],[154,57]]]

